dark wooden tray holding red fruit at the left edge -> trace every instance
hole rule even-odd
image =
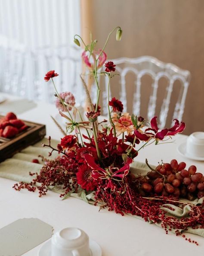
[[[2,117],[3,116],[0,115],[0,118]],[[0,162],[12,157],[25,147],[37,143],[46,135],[45,125],[22,121],[28,126],[27,130],[22,131],[11,139],[0,137]]]

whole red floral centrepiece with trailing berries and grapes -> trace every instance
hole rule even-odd
[[[41,197],[48,189],[60,186],[63,190],[60,196],[63,199],[75,193],[86,202],[100,205],[100,208],[107,207],[109,211],[122,215],[140,216],[145,221],[160,225],[166,233],[168,230],[174,231],[176,235],[182,235],[191,242],[182,231],[189,227],[204,228],[203,175],[196,172],[195,166],[186,170],[186,164],[176,160],[170,163],[161,162],[156,168],[150,166],[146,160],[150,169],[147,174],[136,176],[131,170],[133,159],[140,150],[153,143],[156,147],[169,143],[167,140],[184,130],[185,123],[175,119],[171,128],[159,129],[156,116],[149,124],[142,116],[123,112],[123,103],[119,99],[110,99],[110,82],[118,74],[114,73],[117,72],[117,67],[112,61],[105,62],[105,47],[115,31],[117,41],[121,40],[122,30],[117,27],[108,34],[100,50],[97,49],[97,40],[93,40],[92,35],[89,45],[79,35],[74,36],[76,45],[80,46],[82,43],[84,46],[82,60],[96,82],[97,99],[93,102],[83,76],[80,76],[89,103],[86,120],[80,116],[81,121],[75,121],[78,110],[74,106],[74,96],[68,92],[57,91],[53,78],[58,74],[54,70],[46,74],[45,80],[51,79],[53,82],[56,106],[60,115],[65,118],[67,130],[57,148],[52,147],[50,137],[49,143],[43,144],[43,147],[50,148],[49,155],[53,151],[59,153],[56,160],[43,156],[45,165],[40,173],[30,173],[34,176],[33,181],[30,184],[20,182],[14,188],[27,188],[33,192],[38,189]],[[99,76],[108,77],[109,122],[99,121]],[[180,196],[189,200],[200,199],[197,204],[181,202]],[[188,207],[189,214],[181,218],[173,215],[176,209],[182,211],[185,207]],[[198,245],[195,241],[192,243]]]

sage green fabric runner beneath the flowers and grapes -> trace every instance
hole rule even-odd
[[[31,182],[33,177],[29,175],[29,172],[39,173],[41,167],[43,166],[41,158],[38,157],[39,155],[42,155],[45,158],[51,158],[51,159],[55,159],[58,156],[58,152],[55,151],[53,152],[51,157],[47,157],[50,149],[48,147],[42,147],[41,145],[42,143],[48,144],[48,140],[44,138],[42,141],[38,142],[34,146],[27,147],[26,149],[22,150],[20,153],[15,154],[12,158],[7,159],[4,162],[0,163],[0,177],[6,178],[6,179],[13,179],[15,181],[23,181],[27,183]],[[53,147],[56,147],[58,143],[59,143],[58,141],[52,140]],[[34,158],[37,158],[40,163],[32,163],[32,160]],[[130,170],[135,175],[138,175],[140,173],[144,175],[149,171],[148,166],[145,163],[139,163],[139,162],[134,162],[131,165]],[[54,187],[54,188],[50,187],[49,189],[59,194],[63,193],[63,190],[61,189],[60,186]],[[67,198],[68,196],[72,196],[72,197],[84,200],[85,202],[90,204],[94,203],[94,193],[91,192],[90,194],[86,195],[83,189],[80,189],[78,193],[70,192],[65,198]],[[197,204],[201,204],[203,200],[204,198],[201,198],[199,200],[196,199],[191,203],[197,205]],[[185,200],[185,199],[181,201],[189,202],[188,200]],[[172,211],[169,208],[166,208],[165,206],[170,206],[175,210]],[[175,216],[177,218],[182,218],[182,217],[188,217],[190,206],[186,205],[183,209],[181,209],[175,205],[167,204],[167,205],[164,205],[162,209],[164,209],[167,212],[167,216]],[[138,217],[135,215],[133,217],[143,220],[141,217]],[[151,224],[153,222],[148,221],[148,223]],[[156,225],[161,226],[161,224],[156,224]],[[174,230],[171,230],[171,232],[174,232]],[[201,229],[201,228],[193,229],[189,227],[188,230],[185,230],[185,232],[204,237],[204,229]]]

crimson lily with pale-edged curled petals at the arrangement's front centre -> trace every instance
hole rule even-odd
[[[117,167],[109,166],[104,170],[95,163],[94,158],[91,155],[85,154],[84,158],[87,161],[88,166],[90,166],[93,170],[93,179],[108,179],[106,188],[110,188],[111,190],[114,190],[116,187],[112,182],[112,179],[117,181],[118,179],[123,179],[125,176],[127,176],[130,170],[130,163],[133,162],[132,158],[128,158],[127,162],[125,162],[124,166],[120,169]]]

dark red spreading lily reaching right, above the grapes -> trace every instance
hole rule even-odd
[[[139,130],[135,130],[134,134],[140,141],[148,141],[150,138],[155,138],[156,140],[163,140],[166,136],[175,135],[177,133],[182,132],[185,129],[185,123],[174,119],[175,124],[170,129],[163,129],[159,131],[157,125],[157,116],[151,119],[151,128],[147,128],[144,133],[141,133]],[[148,132],[152,131],[152,132]]]

